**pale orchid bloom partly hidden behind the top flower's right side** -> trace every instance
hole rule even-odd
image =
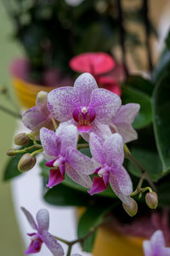
[[[136,103],[122,105],[112,119],[111,131],[121,134],[124,143],[129,143],[138,137],[132,123],[139,113],[139,108],[139,104]]]

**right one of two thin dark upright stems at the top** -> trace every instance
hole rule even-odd
[[[153,63],[152,63],[152,55],[151,55],[151,49],[150,49],[150,20],[149,20],[148,0],[143,0],[143,9],[144,9],[145,45],[146,45],[147,56],[148,56],[148,66],[151,72],[153,69]]]

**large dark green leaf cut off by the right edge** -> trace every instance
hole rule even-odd
[[[152,107],[156,146],[163,172],[167,172],[170,169],[170,73],[156,84]]]

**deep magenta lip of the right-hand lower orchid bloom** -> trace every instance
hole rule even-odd
[[[90,195],[98,194],[107,189],[103,177],[94,177],[92,188],[88,191]]]

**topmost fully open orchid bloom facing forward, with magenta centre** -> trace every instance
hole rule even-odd
[[[99,89],[89,73],[80,75],[74,87],[58,88],[48,94],[48,109],[54,119],[76,125],[87,141],[92,131],[103,139],[111,135],[109,125],[120,107],[120,97]]]

